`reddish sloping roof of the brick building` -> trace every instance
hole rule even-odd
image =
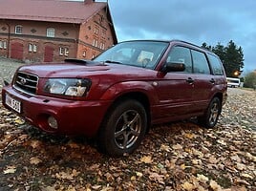
[[[81,24],[107,7],[104,2],[0,0],[0,19]]]

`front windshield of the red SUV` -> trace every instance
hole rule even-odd
[[[167,42],[158,41],[122,42],[99,54],[94,60],[154,69],[167,46]]]

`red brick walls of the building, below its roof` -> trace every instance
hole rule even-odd
[[[15,34],[14,29],[17,25],[22,26],[22,34]],[[54,37],[46,36],[47,28],[54,29]],[[94,39],[97,40],[97,45],[94,44]],[[62,61],[67,57],[91,59],[93,55],[101,53],[103,48],[105,50],[114,44],[113,33],[104,10],[81,25],[41,21],[0,21],[1,40],[8,42],[9,49],[0,48],[0,56],[8,57],[9,51],[9,57],[35,62],[49,60],[45,59],[46,56],[49,58],[49,54],[46,55],[49,48],[53,49],[53,61]],[[22,49],[17,48],[18,44],[22,44]],[[30,44],[36,46],[36,50],[30,52]],[[60,54],[60,48],[62,51],[68,50],[68,55]]]

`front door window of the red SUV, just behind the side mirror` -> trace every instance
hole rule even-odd
[[[192,73],[192,61],[189,49],[185,47],[173,47],[167,57],[167,62],[183,63],[184,72]]]

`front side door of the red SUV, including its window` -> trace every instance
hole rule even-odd
[[[191,53],[185,47],[173,47],[167,62],[185,64],[184,72],[170,72],[161,76],[158,84],[160,117],[177,118],[187,115],[193,108],[194,75]]]

